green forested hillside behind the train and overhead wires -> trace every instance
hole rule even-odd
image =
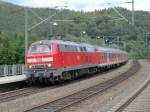
[[[114,9],[94,12],[70,10],[29,9],[29,27],[47,18],[44,24],[29,32],[29,43],[40,39],[66,39],[91,44],[123,48],[133,58],[150,57],[150,13],[135,12],[135,25],[131,25],[131,11],[118,7],[128,19],[123,20]],[[24,63],[24,8],[0,2],[0,64]],[[57,23],[57,25],[55,24]],[[97,38],[100,37],[100,38]]]

